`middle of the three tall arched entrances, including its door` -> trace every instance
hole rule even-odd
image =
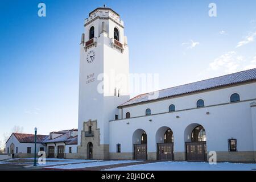
[[[158,160],[174,160],[174,133],[170,127],[163,126],[156,131]]]

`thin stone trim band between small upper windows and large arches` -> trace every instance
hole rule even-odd
[[[192,108],[189,108],[189,109],[181,109],[181,110],[176,110],[176,111],[171,111],[171,112],[167,111],[167,112],[156,113],[156,114],[151,114],[151,115],[139,115],[137,117],[123,118],[123,119],[117,119],[117,120],[110,120],[109,122],[112,122],[112,121],[122,121],[122,120],[125,120],[125,119],[133,119],[133,118],[141,118],[141,117],[150,117],[152,115],[159,115],[159,114],[177,113],[177,112],[180,112],[180,111],[187,111],[187,110],[194,110],[194,109],[203,109],[203,108],[207,108],[207,107],[222,106],[222,105],[228,105],[228,104],[237,104],[237,103],[249,102],[249,101],[256,101],[256,98],[249,99],[249,100],[244,100],[244,101],[238,101],[238,102],[226,102],[226,103],[222,103],[222,104],[214,104],[214,105],[209,105],[209,106],[204,106],[204,107],[192,107]],[[254,106],[251,106],[251,107],[254,107]]]

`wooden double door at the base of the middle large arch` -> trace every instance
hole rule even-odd
[[[174,160],[174,143],[158,143],[158,160]]]

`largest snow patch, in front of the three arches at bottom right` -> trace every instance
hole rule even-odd
[[[108,171],[250,171],[256,164],[206,162],[156,162],[106,169]]]

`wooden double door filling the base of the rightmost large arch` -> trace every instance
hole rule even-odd
[[[206,161],[206,142],[186,142],[186,158],[192,161]]]

